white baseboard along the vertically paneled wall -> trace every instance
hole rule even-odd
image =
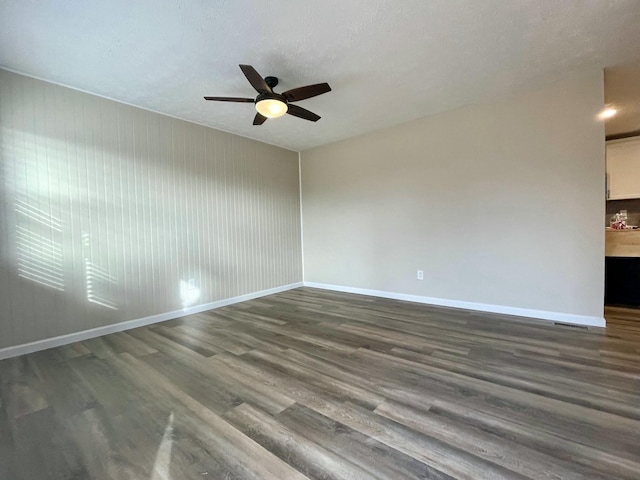
[[[59,337],[45,338],[44,340],[37,340],[35,342],[25,343],[22,345],[16,345],[13,347],[0,348],[0,360],[5,358],[17,357],[19,355],[25,355],[27,353],[38,352],[40,350],[46,350],[48,348],[60,347],[62,345],[68,345],[74,342],[81,342],[90,338],[101,337],[110,333],[122,332],[124,330],[131,330],[132,328],[144,327],[145,325],[151,325],[152,323],[164,322],[166,320],[173,320],[174,318],[184,317],[186,315],[192,315],[194,313],[205,312],[207,310],[213,310],[215,308],[225,307],[234,303],[246,302],[254,298],[264,297],[266,295],[273,295],[274,293],[285,292],[293,288],[302,287],[303,283],[291,283],[289,285],[283,285],[282,287],[270,288],[268,290],[262,290],[260,292],[248,293],[246,295],[240,295],[238,297],[226,298],[224,300],[218,300],[217,302],[205,303],[203,305],[196,305],[195,307],[189,307],[182,310],[174,310],[172,312],[159,313],[157,315],[151,315],[149,317],[138,318],[135,320],[128,320],[125,322],[115,323],[113,325],[105,325],[103,327],[92,328],[90,330],[83,330],[81,332],[70,333],[68,335],[60,335]]]

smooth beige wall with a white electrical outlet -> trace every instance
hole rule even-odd
[[[602,318],[602,105],[582,71],[302,152],[305,281]]]

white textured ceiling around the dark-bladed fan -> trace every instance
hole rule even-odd
[[[639,0],[0,0],[0,65],[293,150],[640,59]],[[333,92],[254,127],[238,68]],[[278,91],[278,89],[276,89]]]

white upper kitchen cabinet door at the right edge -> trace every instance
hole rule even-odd
[[[607,142],[609,200],[640,198],[640,138]]]

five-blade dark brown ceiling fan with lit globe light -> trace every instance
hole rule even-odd
[[[204,99],[218,102],[255,103],[258,113],[256,113],[253,119],[254,125],[262,125],[267,121],[267,118],[281,117],[285,113],[293,115],[294,117],[304,118],[311,122],[320,120],[320,115],[316,115],[297,105],[292,105],[292,102],[306,100],[307,98],[330,92],[331,87],[328,83],[316,83],[314,85],[307,85],[306,87],[287,90],[282,93],[275,93],[273,88],[278,85],[278,79],[276,77],[262,78],[251,65],[240,65],[240,69],[242,73],[244,73],[244,76],[247,77],[247,80],[249,80],[249,83],[258,92],[258,96],[255,99],[237,97],[204,97]]]

